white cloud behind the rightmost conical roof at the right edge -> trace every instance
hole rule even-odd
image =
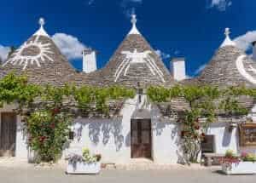
[[[236,45],[245,51],[252,47],[252,43],[256,41],[256,31],[247,31],[246,34],[234,39]]]

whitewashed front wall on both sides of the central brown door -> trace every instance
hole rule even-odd
[[[102,163],[130,163],[131,115],[136,111],[136,103],[137,97],[127,100],[120,119],[77,119],[73,129],[82,125],[82,136],[80,140],[75,138],[72,141],[65,155],[81,153],[83,147],[88,147],[90,152],[102,154]],[[155,109],[151,111],[151,118],[154,163],[177,163],[182,156],[178,148],[177,124],[160,121],[160,112]]]

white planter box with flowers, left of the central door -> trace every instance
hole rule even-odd
[[[90,155],[90,150],[83,149],[83,155],[69,154],[67,174],[99,174],[101,171],[100,154]]]

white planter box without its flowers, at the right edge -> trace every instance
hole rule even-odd
[[[224,174],[256,174],[256,163],[223,163],[222,171]]]

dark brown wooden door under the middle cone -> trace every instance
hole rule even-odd
[[[151,120],[131,120],[131,158],[151,158]]]

